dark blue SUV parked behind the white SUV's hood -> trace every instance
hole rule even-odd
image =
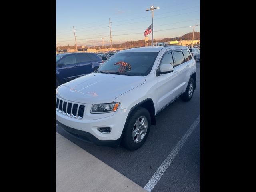
[[[56,88],[70,80],[94,72],[102,63],[94,53],[64,53],[56,55]]]

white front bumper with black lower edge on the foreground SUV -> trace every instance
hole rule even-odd
[[[89,139],[98,145],[107,145],[113,142],[120,142],[124,124],[128,116],[129,110],[122,109],[114,112],[112,116],[99,118],[94,120],[84,120],[72,118],[56,111],[56,123],[69,134],[82,140]],[[110,133],[101,133],[97,128],[110,127]],[[84,138],[86,137],[86,138]]]

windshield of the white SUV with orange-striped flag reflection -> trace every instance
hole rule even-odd
[[[158,52],[117,53],[109,58],[96,72],[146,76],[150,73]]]

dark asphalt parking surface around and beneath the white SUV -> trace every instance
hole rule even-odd
[[[200,62],[196,62],[196,90],[189,102],[180,98],[156,116],[144,145],[136,151],[96,146],[56,132],[102,160],[141,187],[146,186],[166,157],[200,115]],[[195,127],[152,191],[200,191],[200,124]]]

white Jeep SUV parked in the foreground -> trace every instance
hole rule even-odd
[[[196,61],[187,47],[123,50],[56,89],[56,123],[76,138],[136,150],[155,115],[179,96],[189,101],[195,88]]]

